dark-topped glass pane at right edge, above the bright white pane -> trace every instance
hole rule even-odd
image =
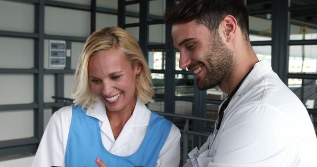
[[[317,39],[316,10],[292,11],[290,25],[290,40]]]

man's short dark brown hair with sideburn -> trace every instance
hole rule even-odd
[[[243,0],[181,0],[165,10],[164,21],[173,24],[195,19],[198,24],[216,32],[221,20],[227,15],[236,18],[246,41],[250,41],[248,9]]]

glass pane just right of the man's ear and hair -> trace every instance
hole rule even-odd
[[[249,16],[250,41],[272,40],[272,14]]]

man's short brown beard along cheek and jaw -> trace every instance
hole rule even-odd
[[[211,35],[203,58],[206,65],[206,76],[197,79],[197,87],[201,90],[219,85],[226,79],[226,76],[230,75],[234,65],[233,52],[221,41],[218,33],[214,34]]]

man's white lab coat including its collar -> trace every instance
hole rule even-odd
[[[199,150],[199,167],[317,167],[308,112],[265,60],[232,97],[211,146],[213,136]]]

